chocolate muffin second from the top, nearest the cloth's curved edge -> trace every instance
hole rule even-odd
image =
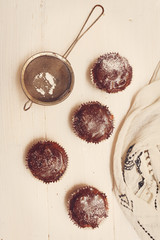
[[[74,132],[83,140],[99,143],[113,132],[113,115],[99,102],[80,105],[72,118]]]

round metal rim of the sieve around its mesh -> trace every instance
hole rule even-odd
[[[39,100],[35,97],[33,97],[27,90],[26,88],[26,84],[25,84],[25,81],[24,81],[24,75],[25,75],[25,71],[26,71],[26,68],[28,67],[28,65],[36,58],[38,57],[41,57],[41,56],[51,56],[51,57],[54,57],[54,58],[57,58],[59,60],[61,60],[68,68],[69,70],[69,73],[70,73],[70,76],[71,76],[71,85],[70,87],[68,88],[68,91],[67,93],[65,94],[62,94],[61,97],[57,98],[56,100],[52,100],[52,101],[42,101],[42,100]],[[62,55],[58,54],[58,53],[55,53],[55,52],[50,52],[50,51],[44,51],[44,52],[39,52],[39,53],[36,53],[34,55],[32,55],[30,58],[27,59],[27,61],[24,63],[23,67],[22,67],[22,71],[21,71],[21,87],[22,87],[22,90],[23,92],[25,93],[26,97],[33,103],[36,103],[36,104],[39,104],[39,105],[44,105],[44,106],[51,106],[51,105],[56,105],[62,101],[64,101],[69,95],[70,93],[72,92],[72,89],[73,89],[73,86],[74,86],[74,72],[73,72],[73,69],[72,69],[72,66],[70,64],[70,62],[65,58],[63,57]]]

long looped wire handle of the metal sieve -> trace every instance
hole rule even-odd
[[[85,28],[85,26],[86,26],[89,18],[91,17],[92,13],[94,12],[94,10],[95,10],[96,8],[101,8],[102,11],[101,11],[100,15],[89,25],[89,27],[88,27],[84,32],[82,32],[82,31],[84,30],[84,28]],[[95,5],[95,6],[92,8],[91,12],[89,13],[86,21],[84,22],[84,24],[83,24],[83,26],[82,26],[80,32],[78,33],[77,37],[75,38],[75,40],[73,41],[73,43],[70,45],[70,47],[67,49],[67,51],[64,53],[63,57],[65,57],[65,58],[68,57],[68,55],[70,54],[70,52],[72,51],[72,49],[74,48],[74,46],[76,45],[76,43],[77,43],[77,42],[81,39],[81,37],[83,37],[83,35],[84,35],[86,32],[88,32],[88,30],[98,21],[98,19],[103,15],[103,13],[104,13],[104,8],[103,8],[101,5],[99,5],[99,4]]]

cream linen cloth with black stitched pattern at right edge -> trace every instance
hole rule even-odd
[[[114,152],[114,190],[143,240],[160,239],[160,62],[136,95]]]

